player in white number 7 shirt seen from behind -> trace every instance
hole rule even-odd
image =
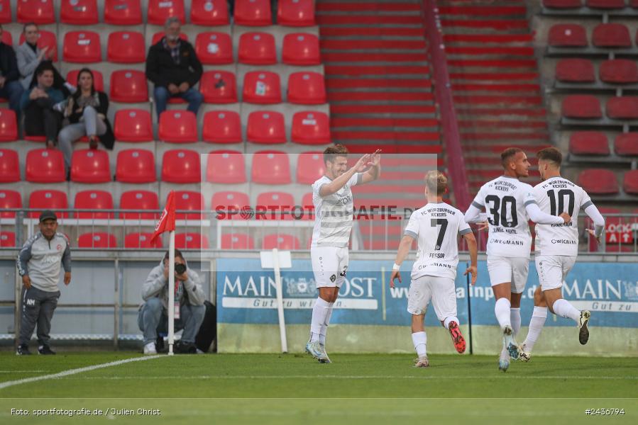
[[[423,319],[432,301],[436,317],[449,330],[458,353],[466,349],[456,317],[456,266],[458,265],[458,235],[468,242],[472,265],[464,274],[472,273],[472,285],[476,282],[476,239],[470,226],[463,219],[463,212],[443,202],[447,192],[447,179],[440,171],[429,171],[425,180],[427,205],[412,212],[405,234],[392,266],[390,286],[395,278],[401,282],[399,268],[409,254],[410,246],[417,239],[417,259],[412,266],[411,283],[407,295],[407,311],[412,314],[412,343],[417,351],[417,368],[427,368],[427,334]]]

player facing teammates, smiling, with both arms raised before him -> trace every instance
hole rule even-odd
[[[326,354],[326,331],[348,270],[348,242],[354,211],[351,187],[378,179],[380,159],[381,151],[378,149],[373,154],[363,155],[355,166],[346,171],[348,149],[342,145],[327,147],[324,150],[326,174],[312,184],[316,217],[310,259],[319,297],[312,309],[306,352],[320,363],[330,363]]]

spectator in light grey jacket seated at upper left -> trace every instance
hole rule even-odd
[[[48,47],[38,48],[38,38],[40,38],[38,26],[33,22],[26,23],[22,31],[24,33],[24,42],[18,46],[16,57],[18,60],[18,71],[22,76],[20,82],[23,89],[28,90],[35,86],[35,84],[38,84],[38,81],[33,78],[35,69],[37,69],[40,64],[48,62],[53,69],[53,86],[62,91],[65,98],[73,93],[75,87],[68,84],[65,79],[62,78],[60,72],[57,72],[57,69],[53,66],[52,58],[55,53],[53,49],[49,50]]]

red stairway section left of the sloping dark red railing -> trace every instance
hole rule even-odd
[[[421,1],[317,0],[331,135],[351,152],[412,154],[383,159],[383,179],[355,188],[355,205],[424,203],[424,167],[441,142]],[[361,210],[360,210],[361,211]],[[378,217],[378,213],[375,217]],[[396,249],[400,222],[359,220],[365,249]]]

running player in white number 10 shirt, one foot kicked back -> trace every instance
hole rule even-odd
[[[594,223],[594,229],[587,229],[600,242],[605,229],[605,219],[592,203],[587,192],[580,186],[561,177],[563,155],[559,149],[548,147],[537,153],[541,183],[534,187],[534,196],[539,208],[550,214],[566,213],[570,221],[564,225],[537,225],[536,227],[536,268],[539,273],[539,293],[534,294],[534,312],[529,323],[527,338],[522,344],[521,358],[528,361],[534,343],[537,341],[549,310],[561,317],[568,317],[578,324],[578,341],[587,344],[589,340],[590,312],[577,310],[563,299],[561,288],[567,273],[576,263],[578,256],[578,212],[584,210]],[[538,291],[537,290],[537,291]]]

